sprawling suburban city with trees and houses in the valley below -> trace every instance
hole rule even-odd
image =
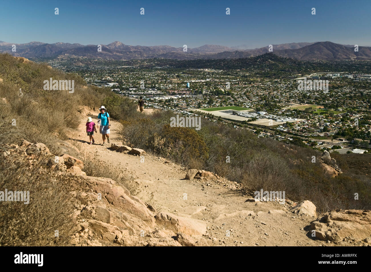
[[[371,147],[368,61],[367,66],[359,60],[320,63],[318,70],[308,70],[308,62],[296,61],[295,68],[278,74],[266,63],[286,68],[290,59],[271,53],[241,59],[240,69],[220,69],[223,60],[221,64],[209,60],[210,68],[193,68],[197,60],[184,64],[157,58],[119,61],[58,56],[40,60],[78,73],[88,84],[133,99],[143,96],[147,107],[201,115],[253,131],[258,137],[340,154],[362,154]],[[180,68],[185,65],[190,68]],[[315,85],[312,90],[309,85],[298,90],[303,79],[323,80],[324,85],[328,81],[329,91],[317,90]]]

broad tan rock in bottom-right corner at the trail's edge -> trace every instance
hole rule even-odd
[[[341,245],[370,245],[371,211],[332,210],[309,226],[308,236]]]

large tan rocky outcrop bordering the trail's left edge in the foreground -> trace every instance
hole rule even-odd
[[[32,144],[22,139],[19,145],[8,146],[20,155],[27,156],[31,165],[42,161],[43,167],[57,172],[57,177],[71,175],[73,181],[83,186],[76,187],[76,191],[66,192],[75,206],[70,245],[206,245],[201,236],[206,232],[206,222],[168,213],[154,216],[156,209],[131,195],[122,184],[110,178],[86,176],[80,159],[68,154],[53,155],[42,143]],[[8,153],[4,152],[5,155]]]

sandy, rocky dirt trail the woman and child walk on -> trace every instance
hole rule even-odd
[[[131,176],[136,182],[137,197],[150,203],[157,212],[170,212],[205,222],[203,234],[209,245],[217,246],[321,246],[322,241],[308,238],[303,228],[315,218],[288,211],[289,205],[277,202],[245,202],[249,196],[237,190],[235,183],[224,179],[184,179],[186,169],[167,162],[164,158],[146,154],[144,161],[108,148],[101,135],[95,135],[95,144],[88,144],[86,119],[96,122],[98,112],[86,109],[81,114],[81,125],[72,135],[81,142],[80,152],[105,163],[107,171]],[[111,120],[111,143],[121,141],[121,124]],[[165,163],[166,161],[166,163]]]

